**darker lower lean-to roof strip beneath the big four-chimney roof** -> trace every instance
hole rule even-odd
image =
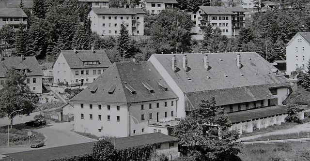
[[[216,106],[274,98],[270,90],[265,86],[186,93],[186,96],[194,108],[198,108],[202,100],[208,100],[211,97],[215,97]]]

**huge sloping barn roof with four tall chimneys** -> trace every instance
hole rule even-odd
[[[272,64],[255,52],[241,53],[239,69],[238,53],[209,53],[209,71],[204,69],[205,54],[187,54],[188,72],[183,69],[183,56],[177,54],[177,72],[171,69],[171,54],[152,55],[157,59],[184,93],[266,85],[268,88],[290,86],[290,82]],[[226,77],[227,76],[227,77]]]

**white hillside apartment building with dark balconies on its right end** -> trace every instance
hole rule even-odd
[[[199,6],[191,14],[195,27],[193,32],[203,34],[208,23],[219,28],[222,35],[228,37],[239,34],[240,28],[245,26],[246,10],[242,7],[214,7]]]

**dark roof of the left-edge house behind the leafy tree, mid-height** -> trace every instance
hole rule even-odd
[[[27,76],[44,75],[39,63],[35,57],[4,57],[0,62],[0,77],[4,77],[6,71],[11,67],[16,69],[29,69],[31,72],[26,73]]]

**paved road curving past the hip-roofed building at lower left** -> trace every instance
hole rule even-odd
[[[37,149],[44,149],[56,146],[67,146],[95,141],[93,139],[78,135],[77,133],[73,132],[73,123],[74,122],[50,123],[47,125],[47,127],[34,130],[47,136],[47,141],[45,142],[46,146]],[[2,147],[0,148],[0,154],[9,154],[29,150],[35,149],[30,148],[29,146]]]

